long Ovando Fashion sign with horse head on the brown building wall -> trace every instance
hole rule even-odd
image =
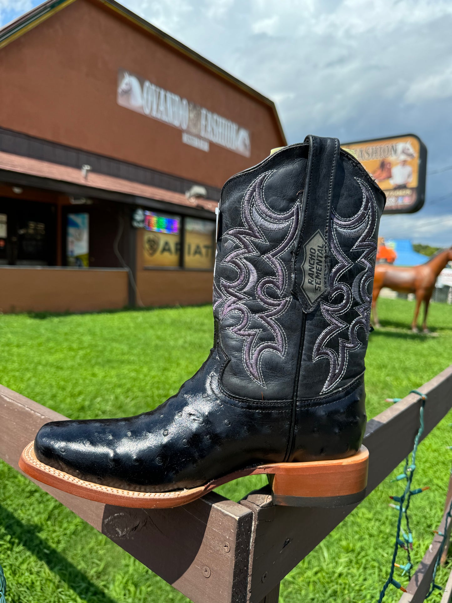
[[[209,151],[213,142],[245,157],[251,155],[248,130],[124,69],[118,70],[116,100],[121,107],[182,130],[187,145]]]

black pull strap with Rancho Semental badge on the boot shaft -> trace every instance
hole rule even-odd
[[[339,140],[306,136],[309,143],[306,183],[296,252],[293,255],[292,293],[304,312],[312,312],[329,290],[329,235]]]

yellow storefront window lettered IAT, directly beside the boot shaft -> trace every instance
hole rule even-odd
[[[212,270],[215,259],[215,222],[185,218],[184,267]]]

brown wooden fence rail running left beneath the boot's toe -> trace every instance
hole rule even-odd
[[[0,458],[14,469],[48,421],[66,417],[0,386]],[[193,603],[245,603],[252,513],[218,494],[185,507],[126,509],[38,484]]]

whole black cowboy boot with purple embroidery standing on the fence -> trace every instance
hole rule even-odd
[[[250,473],[273,476],[280,504],[362,498],[364,356],[384,204],[337,139],[309,136],[230,178],[209,358],[154,411],[47,423],[20,467],[130,507],[174,507]]]

